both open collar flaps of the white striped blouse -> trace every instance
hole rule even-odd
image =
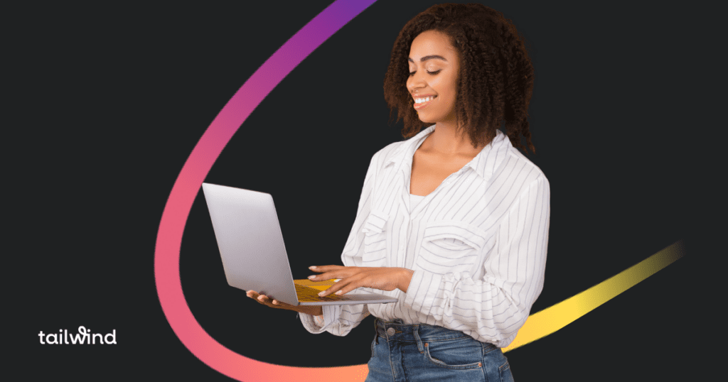
[[[435,131],[434,124],[406,140],[405,144],[398,146],[392,153],[392,156],[389,156],[389,160],[384,165],[388,166],[393,163],[402,163],[405,158],[409,159],[411,163],[414,152],[422,145],[424,138],[427,138],[427,135],[430,135],[433,131]],[[465,167],[470,167],[476,174],[488,180],[503,162],[512,147],[513,145],[510,143],[507,135],[503,134],[500,130],[496,130],[496,137],[472,161],[468,162]]]

